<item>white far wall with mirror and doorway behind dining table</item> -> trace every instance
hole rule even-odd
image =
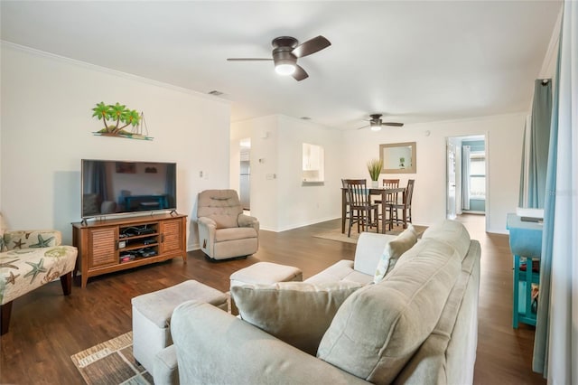
[[[506,216],[517,206],[525,116],[525,113],[520,113],[387,127],[379,132],[346,131],[344,143],[347,146],[344,146],[340,177],[368,179],[366,164],[370,158],[379,156],[380,144],[415,141],[417,173],[396,174],[396,177],[401,179],[401,185],[406,185],[408,179],[415,179],[414,223],[432,225],[443,220],[446,212],[445,139],[449,136],[485,135],[489,176],[487,230],[507,233]],[[386,176],[382,174],[379,179]]]

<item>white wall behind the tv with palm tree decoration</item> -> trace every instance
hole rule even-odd
[[[0,210],[10,228],[61,230],[70,244],[80,159],[172,161],[188,249],[198,247],[197,193],[229,183],[227,101],[8,43],[1,53]],[[100,101],[144,111],[154,140],[93,136]]]

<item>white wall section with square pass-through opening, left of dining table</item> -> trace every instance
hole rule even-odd
[[[251,215],[263,229],[289,230],[340,216],[339,131],[293,117],[269,116],[233,123],[231,132],[231,143],[251,138]],[[323,147],[324,183],[302,183],[303,143]],[[233,164],[238,148],[231,148]],[[232,178],[231,185],[236,185]]]

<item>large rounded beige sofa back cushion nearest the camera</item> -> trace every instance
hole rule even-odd
[[[420,252],[383,281],[340,306],[323,335],[320,359],[369,382],[396,378],[432,333],[461,272],[461,256],[451,246],[435,239],[418,246]]]

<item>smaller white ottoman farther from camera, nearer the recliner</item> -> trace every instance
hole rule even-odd
[[[278,282],[303,281],[303,272],[293,266],[271,262],[257,262],[231,274],[231,287],[244,284],[276,284]],[[231,314],[238,315],[237,306],[231,297]]]

